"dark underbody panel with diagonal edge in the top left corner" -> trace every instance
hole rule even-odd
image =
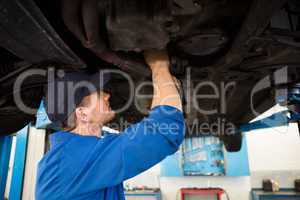
[[[2,0],[0,8],[2,47],[32,63],[51,61],[83,66],[34,2]]]

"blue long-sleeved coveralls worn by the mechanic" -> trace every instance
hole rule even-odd
[[[38,165],[36,199],[124,200],[123,181],[175,153],[184,132],[182,112],[166,105],[121,134],[56,132]]]

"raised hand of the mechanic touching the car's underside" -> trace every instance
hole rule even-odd
[[[144,57],[152,72],[169,70],[170,61],[166,50],[146,50]]]

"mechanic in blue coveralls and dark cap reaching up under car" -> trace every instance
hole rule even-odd
[[[106,81],[102,80],[97,91],[82,90],[75,94],[72,113],[50,113],[51,106],[57,109],[71,103],[66,100],[70,98],[55,99],[48,95],[49,118],[60,123],[63,131],[50,135],[50,150],[39,162],[37,200],[124,200],[124,180],[178,150],[185,124],[176,81],[169,71],[168,55],[165,51],[149,50],[144,57],[151,68],[154,85],[151,110],[148,117],[120,134],[102,130],[115,115],[109,106],[110,95],[104,92]],[[66,74],[60,81],[84,80],[94,84],[91,76],[84,77]],[[73,121],[74,126],[65,121]]]

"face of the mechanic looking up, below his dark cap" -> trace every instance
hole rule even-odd
[[[87,122],[104,125],[115,117],[115,112],[109,104],[110,94],[106,92],[94,92],[85,97],[87,102],[86,118]]]

